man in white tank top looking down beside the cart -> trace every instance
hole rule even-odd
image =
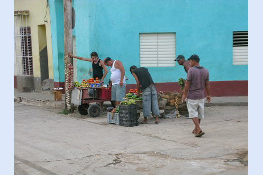
[[[104,64],[111,66],[110,80],[111,83],[111,100],[114,101],[115,106],[119,105],[125,97],[126,81],[125,81],[125,69],[123,63],[119,60],[113,60],[109,57],[104,58]]]

